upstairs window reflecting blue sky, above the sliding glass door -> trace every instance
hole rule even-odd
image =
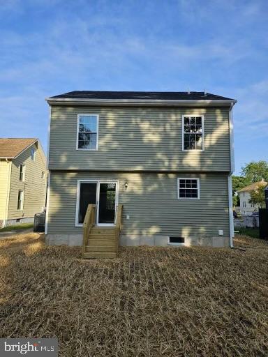
[[[97,150],[98,115],[78,115],[77,149]]]

